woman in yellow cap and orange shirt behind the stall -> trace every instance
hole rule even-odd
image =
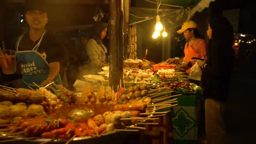
[[[189,74],[190,68],[196,61],[191,58],[196,57],[204,59],[206,55],[206,42],[201,38],[197,24],[194,21],[185,21],[177,33],[183,33],[184,37],[187,39],[187,43],[184,47],[185,56],[181,65],[186,70],[187,74]],[[167,61],[170,62],[172,59],[168,59]]]

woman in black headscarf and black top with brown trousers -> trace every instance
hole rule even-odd
[[[208,144],[226,144],[226,130],[221,105],[227,101],[234,66],[233,27],[224,18],[213,19],[207,35],[211,40],[208,61],[198,61],[203,68],[205,96],[205,131]]]

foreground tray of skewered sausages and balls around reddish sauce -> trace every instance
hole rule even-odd
[[[162,109],[164,104],[161,107],[154,104],[155,95],[152,96],[152,92],[154,90],[149,90],[147,85],[135,85],[128,89],[119,88],[116,93],[109,86],[101,86],[98,93],[95,94],[90,86],[86,86],[81,97],[87,97],[89,102],[91,102],[91,98],[94,98],[94,103],[88,104],[88,99],[85,98],[83,104],[69,104],[66,107],[53,108],[50,111],[45,111],[45,107],[38,104],[41,108],[37,109],[41,109],[42,115],[31,117],[17,115],[20,116],[20,119],[13,120],[8,124],[1,124],[0,139],[68,143],[69,141],[84,141],[101,137],[117,131],[143,131],[146,129],[144,125],[157,125],[151,121],[169,112],[155,111]],[[131,93],[131,96],[128,93]],[[168,101],[166,103],[168,104]],[[9,105],[6,107],[12,106],[10,102],[3,104]],[[24,110],[24,113],[27,109]],[[33,112],[34,109],[36,108],[32,109]],[[14,136],[16,136],[15,139],[13,139]]]

